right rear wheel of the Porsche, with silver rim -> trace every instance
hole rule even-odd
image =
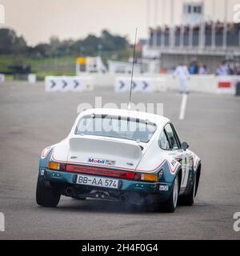
[[[173,185],[172,192],[170,194],[170,198],[166,202],[162,203],[161,208],[166,213],[173,213],[177,208],[178,193],[179,193],[178,182],[179,182],[179,177],[177,175],[176,178],[174,179],[174,185]]]

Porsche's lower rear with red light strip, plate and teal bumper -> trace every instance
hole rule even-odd
[[[161,200],[160,174],[50,162],[42,178],[73,198],[101,198],[142,204]],[[164,199],[164,196],[162,199]]]

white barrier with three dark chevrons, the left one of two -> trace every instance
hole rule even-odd
[[[94,83],[92,77],[46,77],[46,91],[85,91],[93,90]]]

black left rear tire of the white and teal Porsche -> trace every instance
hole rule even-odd
[[[36,202],[38,203],[38,206],[56,207],[58,206],[60,197],[61,194],[56,188],[47,186],[46,181],[38,177],[36,190]]]

